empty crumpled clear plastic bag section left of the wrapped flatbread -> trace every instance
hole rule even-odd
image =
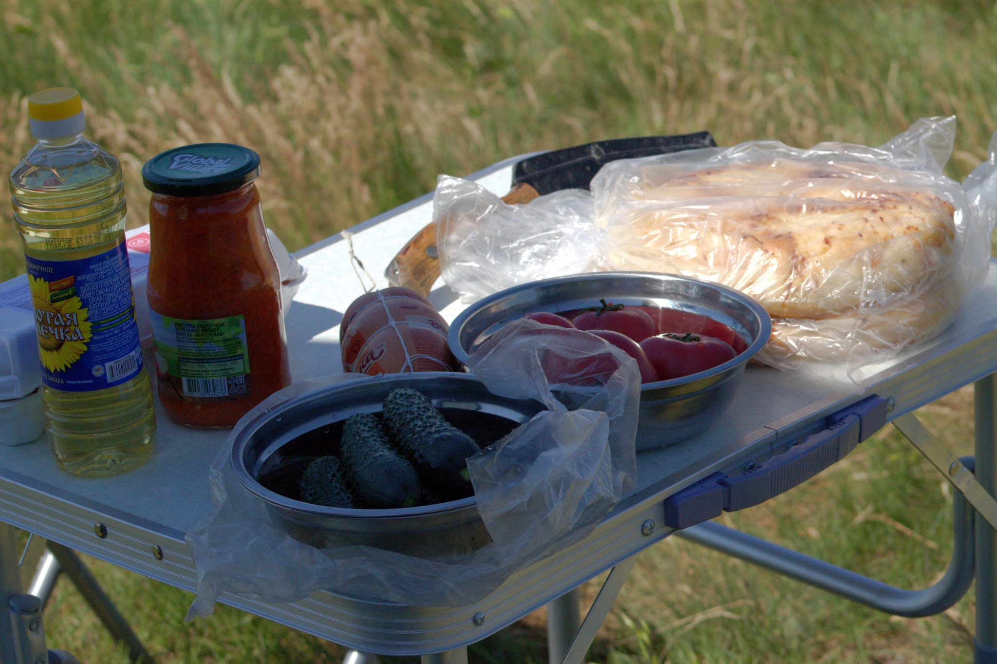
[[[465,304],[516,284],[600,268],[604,242],[584,189],[507,204],[476,182],[440,175],[433,219],[440,272]]]

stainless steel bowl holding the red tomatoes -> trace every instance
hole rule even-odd
[[[533,311],[572,311],[614,304],[663,306],[708,316],[730,326],[748,349],[719,367],[640,389],[637,450],[660,448],[706,430],[734,398],[745,365],[772,334],[772,320],[744,293],[673,274],[593,272],[508,288],[465,309],[450,326],[450,349],[462,362],[505,323]]]

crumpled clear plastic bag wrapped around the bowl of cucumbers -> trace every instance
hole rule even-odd
[[[607,366],[582,387],[549,385],[546,373]],[[619,349],[590,334],[523,320],[506,326],[469,366],[488,389],[536,399],[542,411],[468,460],[478,510],[493,541],[474,553],[421,558],[365,545],[319,549],[293,539],[266,506],[235,480],[228,462],[239,431],[300,394],[344,380],[292,385],[243,417],[210,469],[215,508],[186,534],[197,567],[187,618],[209,615],[222,592],[270,602],[329,590],[417,606],[460,607],[498,588],[510,574],[585,537],[634,486],[640,374]],[[568,404],[565,406],[564,404]]]

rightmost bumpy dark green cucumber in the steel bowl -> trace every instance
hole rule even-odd
[[[433,402],[410,388],[392,390],[384,400],[384,423],[392,442],[419,470],[431,494],[441,500],[474,495],[466,460],[481,449],[447,422]]]

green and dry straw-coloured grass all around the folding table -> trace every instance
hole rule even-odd
[[[30,147],[26,96],[72,85],[90,136],[122,159],[131,225],[147,218],[139,171],[148,159],[230,141],[262,156],[267,223],[292,249],[432,189],[440,172],[622,136],[708,129],[720,145],[877,145],[919,117],[955,114],[948,172],[961,179],[997,130],[994,9],[982,0],[6,0],[0,166]],[[0,217],[6,279],[23,271],[6,189]],[[923,414],[962,454],[970,412],[963,391]],[[887,433],[726,520],[918,587],[951,547],[940,482]],[[189,594],[91,562],[163,662],[342,656],[227,607],[182,623]],[[46,621],[50,646],[85,662],[127,661],[65,580]],[[670,538],[641,555],[589,659],[968,662],[972,625],[972,593],[941,616],[895,620]],[[544,643],[541,612],[474,647],[472,659],[542,662]]]

